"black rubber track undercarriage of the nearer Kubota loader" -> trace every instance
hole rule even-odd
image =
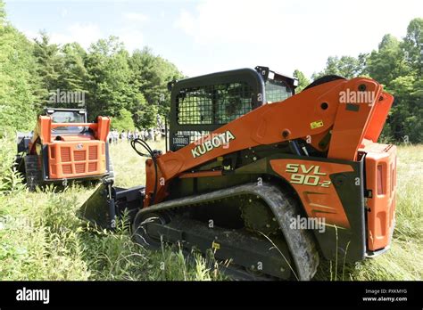
[[[252,230],[249,227],[252,223],[237,223],[241,219],[239,216],[233,216],[228,223],[213,211],[228,207],[225,202],[229,201],[230,204],[230,200],[237,200],[238,203],[232,206],[240,208],[247,208],[254,202],[257,207],[260,201],[262,208],[271,212],[271,220],[280,229],[269,234]],[[244,203],[239,203],[241,200]],[[198,212],[198,208],[201,208],[201,212]],[[228,214],[228,210],[225,211]],[[145,208],[138,212],[134,220],[134,233],[136,240],[144,244],[151,239],[160,241],[159,236],[162,235],[164,241],[180,241],[187,249],[198,247],[203,252],[215,249],[215,257],[232,259],[234,265],[245,268],[253,266],[262,273],[282,279],[293,277],[310,280],[319,265],[313,236],[311,232],[289,228],[289,219],[300,213],[294,200],[289,199],[277,186],[245,184]],[[154,217],[159,220],[148,221]],[[266,217],[257,218],[257,223],[264,219]]]

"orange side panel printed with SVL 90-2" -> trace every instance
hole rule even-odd
[[[329,176],[351,172],[351,166],[301,159],[274,159],[270,160],[270,165],[294,187],[307,216],[323,217],[326,224],[350,227],[343,204]]]

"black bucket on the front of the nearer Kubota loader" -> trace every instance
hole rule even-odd
[[[97,187],[95,192],[79,208],[77,215],[101,228],[114,230],[116,221],[128,212],[132,223],[137,211],[142,208],[145,186],[129,189],[112,186],[108,180]]]

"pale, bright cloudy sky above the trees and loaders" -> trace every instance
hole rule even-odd
[[[390,33],[401,38],[421,0],[6,0],[13,26],[27,37],[45,30],[53,43],[120,37],[129,52],[153,53],[193,77],[267,66],[310,77],[328,56],[369,53]]]

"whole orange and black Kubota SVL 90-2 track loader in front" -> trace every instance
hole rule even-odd
[[[240,279],[310,280],[319,259],[383,253],[396,148],[377,139],[393,96],[364,77],[296,86],[267,67],[170,83],[169,150],[132,143],[146,184],[103,184],[80,216],[112,229],[125,214],[145,247],[211,250]]]

